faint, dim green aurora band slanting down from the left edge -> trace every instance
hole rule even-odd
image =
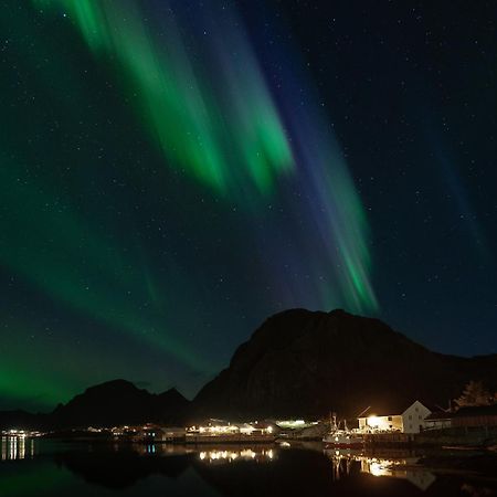
[[[6,158],[2,163],[7,163]],[[138,293],[157,300],[150,276],[136,271],[117,246],[81,222],[66,203],[60,199],[54,202],[57,195],[49,187],[33,187],[22,172],[13,165],[0,169],[7,213],[1,228],[9,241],[0,250],[0,261],[75,310],[146,339],[192,368],[205,367],[172,335],[155,331],[155,326],[165,321],[160,307],[157,320],[147,321],[129,298]],[[44,247],[46,239],[53,242],[54,251]]]

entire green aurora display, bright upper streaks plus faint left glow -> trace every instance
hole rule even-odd
[[[84,51],[87,46],[104,77],[115,83],[116,98],[129,103],[130,115],[137,116],[168,170],[191,179],[205,197],[221,199],[220,209],[230,212],[234,205],[243,212],[250,226],[246,237],[252,234],[253,243],[267,254],[263,269],[254,272],[267,272],[264,276],[274,288],[274,302],[377,309],[362,204],[332,139],[326,134],[314,136],[316,123],[328,129],[327,123],[310,116],[314,124],[302,136],[288,131],[289,119],[234,14],[230,27],[220,27],[194,55],[194,41],[179,19],[162,15],[159,36],[144,21],[141,7],[130,0],[32,0],[32,4],[41,22],[49,22],[49,11],[67,15],[68,25],[84,40]],[[42,61],[51,56],[55,61],[35,72],[41,95],[50,94],[56,102],[55,115],[70,115],[66,123],[76,123],[72,107],[83,107],[89,89],[77,80],[74,64],[65,68],[64,55],[57,59],[55,42],[39,36],[35,43]],[[39,61],[27,54],[23,62],[38,67]],[[57,61],[71,77],[61,75]],[[36,126],[44,126],[40,117]],[[181,315],[188,316],[190,329],[200,329],[202,319],[190,304],[205,299],[211,288],[192,281],[173,251],[167,257],[167,271],[156,274],[152,257],[141,246],[146,241],[112,231],[112,220],[96,222],[88,214],[92,209],[82,209],[72,197],[75,190],[70,188],[65,194],[57,190],[65,178],[77,183],[84,175],[97,175],[98,165],[62,177],[60,165],[52,167],[45,156],[39,161],[36,151],[28,152],[22,146],[21,140],[12,145],[0,139],[3,268],[54,303],[136,343],[163,351],[192,371],[211,374],[216,370],[199,350],[194,334],[178,337],[169,325],[171,316]],[[288,200],[300,181],[302,197]],[[113,201],[126,203],[119,197]],[[267,215],[268,204],[285,202],[286,231]],[[295,245],[287,247],[288,241]],[[275,269],[279,260],[305,271],[311,283],[306,287],[288,284]],[[74,393],[75,379],[84,377],[74,370],[67,379],[54,379],[49,372],[40,373],[39,367],[31,368],[28,359],[0,366],[0,394],[21,399],[44,392],[50,404],[67,399]]]

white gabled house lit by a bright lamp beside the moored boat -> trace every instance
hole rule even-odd
[[[368,408],[358,417],[359,431],[364,433],[374,432],[402,432],[420,433],[426,427],[425,419],[431,411],[420,401],[409,406],[395,408]]]

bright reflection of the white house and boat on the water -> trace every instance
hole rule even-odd
[[[379,457],[355,451],[324,452],[331,459],[336,480],[359,470],[378,477],[405,479],[424,491],[436,479],[433,473],[419,464],[420,457]]]

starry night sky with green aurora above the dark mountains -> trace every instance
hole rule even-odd
[[[495,2],[0,9],[0,409],[191,398],[292,307],[497,352]]]

